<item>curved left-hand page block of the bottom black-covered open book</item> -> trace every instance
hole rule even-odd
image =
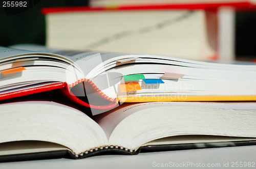
[[[0,143],[40,140],[68,147],[80,154],[108,145],[100,128],[83,112],[50,101],[0,104]]]

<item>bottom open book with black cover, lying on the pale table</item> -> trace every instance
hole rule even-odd
[[[256,144],[256,103],[124,103],[93,116],[49,101],[0,104],[0,160]]]

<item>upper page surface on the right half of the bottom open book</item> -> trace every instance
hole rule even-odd
[[[223,108],[223,109],[256,109],[256,104],[253,102],[148,102],[148,103],[124,103],[119,109],[112,111],[110,114],[102,115],[96,119],[96,122],[106,133],[108,138],[115,129],[115,127],[126,117],[134,114],[139,110],[157,108],[168,106],[170,109],[172,106],[179,107],[202,107],[202,108]],[[145,117],[148,118],[148,117]]]

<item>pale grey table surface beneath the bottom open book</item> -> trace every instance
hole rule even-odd
[[[0,163],[0,168],[240,168],[242,162],[256,168],[256,146],[225,147],[140,153],[138,155],[101,155],[79,160],[48,159]],[[241,163],[240,163],[241,164]],[[233,166],[233,167],[232,167]],[[246,168],[246,167],[242,167]]]

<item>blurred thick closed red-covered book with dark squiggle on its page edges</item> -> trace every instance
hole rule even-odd
[[[42,13],[48,47],[192,60],[216,55],[215,26],[208,25],[203,10],[69,7],[46,8]]]

